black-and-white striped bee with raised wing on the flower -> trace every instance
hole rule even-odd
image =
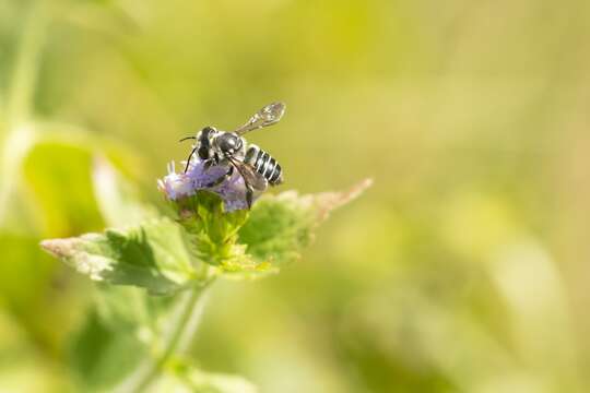
[[[283,182],[283,169],[269,153],[255,144],[250,144],[243,138],[244,134],[264,127],[275,124],[285,112],[283,103],[272,103],[257,111],[241,127],[234,131],[221,131],[214,127],[205,127],[196,136],[182,138],[194,140],[194,144],[187,159],[185,172],[194,154],[204,162],[205,170],[212,166],[228,166],[225,175],[214,180],[206,188],[221,184],[228,179],[234,170],[244,179],[246,186],[246,203],[248,209],[252,205],[255,191],[264,191],[268,186],[278,186]]]

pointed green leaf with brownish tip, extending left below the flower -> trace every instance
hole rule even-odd
[[[172,294],[204,278],[191,264],[182,229],[167,218],[45,240],[42,247],[94,281],[139,286],[155,295]]]

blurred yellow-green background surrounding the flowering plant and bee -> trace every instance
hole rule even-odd
[[[590,4],[0,0],[0,390],[71,390],[93,160],[162,204],[177,140],[273,100],[282,189],[374,187],[214,289],[192,353],[261,392],[590,390]],[[272,130],[272,131],[271,131]],[[92,356],[93,348],[88,348]]]

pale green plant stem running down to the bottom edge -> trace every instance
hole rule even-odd
[[[185,350],[199,325],[199,320],[206,299],[206,289],[212,281],[202,287],[188,290],[178,301],[167,331],[164,332],[163,348],[155,357],[148,357],[131,376],[126,378],[115,393],[144,392],[156,379],[166,362],[177,353]]]

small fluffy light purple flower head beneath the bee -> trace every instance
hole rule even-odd
[[[181,164],[185,168],[186,162]],[[239,172],[234,170],[232,176],[222,179],[229,169],[227,165],[216,165],[205,169],[204,162],[194,155],[186,172],[182,169],[177,174],[175,163],[169,163],[168,175],[157,180],[157,188],[172,201],[194,195],[198,190],[208,190],[223,199],[226,212],[248,209],[246,186]],[[211,187],[213,183],[216,184]],[[259,195],[260,193],[255,193],[255,200]]]

